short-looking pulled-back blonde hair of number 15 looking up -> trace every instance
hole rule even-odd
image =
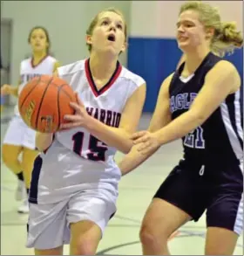
[[[98,24],[99,16],[100,16],[102,13],[107,12],[107,11],[108,11],[108,12],[116,13],[116,14],[118,14],[120,17],[122,17],[123,22],[124,22],[124,24],[125,24],[125,41],[126,41],[126,40],[127,40],[127,25],[126,25],[126,23],[125,23],[125,17],[124,17],[123,13],[122,13],[120,10],[115,9],[115,8],[108,8],[108,9],[99,11],[98,14],[97,14],[95,17],[93,17],[93,19],[91,20],[91,24],[89,25],[89,27],[88,27],[88,29],[87,29],[87,31],[86,31],[86,35],[92,35],[92,32],[93,32],[95,26]],[[91,45],[89,45],[89,44],[86,44],[86,45],[88,46],[88,51],[91,52]]]

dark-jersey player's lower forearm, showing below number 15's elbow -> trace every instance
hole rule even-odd
[[[118,163],[119,169],[122,173],[122,176],[128,174],[132,170],[139,167],[141,163],[144,163],[150,156],[152,156],[158,149],[154,149],[148,154],[140,154],[138,151],[139,145],[132,147],[132,150]]]

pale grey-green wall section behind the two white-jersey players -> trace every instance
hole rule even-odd
[[[125,14],[130,27],[130,1],[1,1],[1,18],[13,20],[11,78],[18,80],[19,63],[30,52],[31,27],[42,25],[51,36],[51,52],[62,64],[86,58],[85,31],[99,10],[115,7]],[[126,53],[121,55],[126,64]]]

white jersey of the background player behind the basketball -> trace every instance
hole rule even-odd
[[[54,65],[57,62],[57,59],[47,55],[41,62],[34,66],[33,59],[24,59],[20,64],[20,77],[21,84],[18,86],[18,94],[23,90],[24,86],[32,80],[34,77],[47,74],[51,75],[54,70]],[[15,107],[15,114],[19,115],[18,107]]]

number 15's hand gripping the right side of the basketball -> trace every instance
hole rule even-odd
[[[77,102],[71,102],[71,107],[75,110],[75,114],[65,114],[65,123],[61,124],[61,129],[77,128],[85,126],[85,123],[90,118],[86,112],[84,104],[79,100],[78,93],[76,93]]]

